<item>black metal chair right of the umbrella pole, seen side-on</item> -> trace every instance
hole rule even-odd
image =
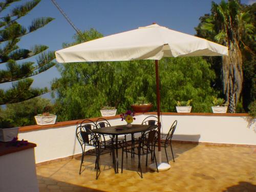
[[[177,123],[178,123],[177,120],[175,120],[173,122],[172,126],[170,126],[170,129],[169,129],[168,133],[167,134],[161,134],[161,147],[164,147],[165,155],[166,155],[166,159],[167,159],[168,163],[169,163],[169,161],[168,161],[168,156],[167,156],[167,151],[166,151],[166,148],[168,147],[168,145],[170,145],[170,151],[172,152],[173,161],[175,162],[173,147],[172,147],[172,138],[173,138]],[[158,146],[158,143],[156,143],[155,146]]]

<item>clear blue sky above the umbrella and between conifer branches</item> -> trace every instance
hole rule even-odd
[[[24,2],[27,0],[20,3]],[[151,25],[153,22],[194,35],[196,33],[194,28],[199,24],[199,17],[210,13],[211,8],[211,0],[56,0],[56,2],[78,29],[95,28],[104,36]],[[220,0],[214,2],[219,3]],[[255,2],[256,0],[241,1],[244,4]],[[11,8],[13,6],[9,9]],[[1,16],[6,15],[7,11],[1,13]],[[42,0],[27,16],[18,21],[28,26],[33,18],[40,16],[51,16],[55,20],[44,28],[23,37],[19,42],[21,48],[42,44],[49,46],[49,50],[59,50],[63,42],[73,41],[74,29],[51,0]],[[0,69],[3,68],[3,66],[0,67]],[[55,77],[59,77],[59,74],[54,67],[36,75],[32,87],[49,86],[50,81]],[[7,89],[10,86],[11,83],[0,84],[0,89]]]

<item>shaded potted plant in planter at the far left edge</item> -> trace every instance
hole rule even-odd
[[[18,127],[14,127],[9,119],[0,117],[0,141],[8,142],[18,136]]]

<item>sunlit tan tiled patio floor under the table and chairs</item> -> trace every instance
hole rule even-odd
[[[169,161],[171,168],[157,173],[143,163],[143,179],[137,173],[137,157],[130,156],[124,158],[123,174],[120,169],[119,174],[114,174],[109,154],[101,156],[98,180],[95,180],[93,156],[86,157],[81,175],[78,174],[80,158],[41,165],[36,168],[39,190],[256,191],[256,148],[184,143],[173,146],[176,162]],[[164,152],[162,158],[164,161]]]

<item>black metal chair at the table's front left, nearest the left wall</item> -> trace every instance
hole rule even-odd
[[[91,125],[92,124],[84,124],[82,126],[78,126],[76,129],[76,137],[82,148],[79,174],[81,174],[81,168],[82,168],[84,156],[85,155],[96,156],[95,169],[97,169],[96,179],[98,179],[98,176],[99,176],[98,173],[100,170],[99,157],[102,154],[110,153],[110,150],[101,147],[100,137],[97,134],[92,132]],[[86,152],[86,146],[93,146],[94,148]]]

